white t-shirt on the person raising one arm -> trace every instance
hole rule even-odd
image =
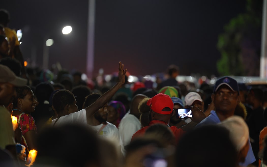
[[[58,118],[52,120],[52,123],[51,123],[52,126],[54,125],[54,123],[57,119]],[[80,123],[83,125],[87,125],[85,109],[77,111],[77,112],[73,112],[69,115],[59,117],[55,126],[62,125],[65,123]]]

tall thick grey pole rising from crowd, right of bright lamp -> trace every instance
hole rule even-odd
[[[87,63],[86,73],[93,77],[94,70],[94,38],[95,38],[95,0],[88,2],[88,38],[87,38]]]

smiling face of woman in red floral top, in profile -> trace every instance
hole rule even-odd
[[[22,110],[26,113],[34,112],[36,106],[36,100],[34,99],[33,91],[28,91],[27,95],[21,99],[22,102]]]

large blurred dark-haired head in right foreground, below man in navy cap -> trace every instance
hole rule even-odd
[[[186,133],[176,147],[175,157],[179,167],[213,167],[215,164],[234,167],[238,163],[229,131],[217,125],[199,127]]]

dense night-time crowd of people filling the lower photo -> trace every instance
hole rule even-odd
[[[176,65],[155,83],[128,83],[121,62],[101,84],[25,68],[7,16],[0,10],[0,166],[29,165],[30,150],[37,167],[266,166],[265,87],[229,76],[178,83]]]

